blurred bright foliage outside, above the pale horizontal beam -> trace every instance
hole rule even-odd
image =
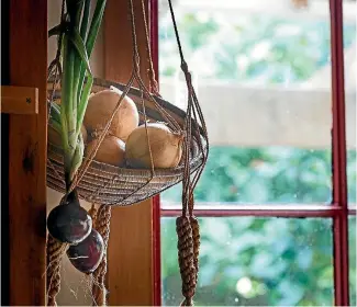
[[[330,61],[327,20],[237,14],[234,23],[227,23],[220,12],[180,10],[177,20],[189,66],[200,79],[266,84],[299,82]],[[169,77],[177,71],[179,57],[170,16],[165,11],[159,25],[160,75]],[[345,24],[345,47],[355,36],[356,24]]]

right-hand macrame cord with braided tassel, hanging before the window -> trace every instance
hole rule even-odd
[[[187,117],[185,122],[185,133],[187,141],[183,147],[185,155],[185,168],[183,168],[183,180],[182,180],[182,216],[177,219],[177,235],[178,235],[178,258],[182,280],[182,295],[185,300],[181,305],[192,306],[192,297],[196,292],[198,283],[199,272],[199,249],[200,249],[200,227],[198,219],[193,216],[193,191],[202,174],[203,167],[208,159],[209,152],[209,139],[207,134],[207,126],[203,118],[203,114],[198,102],[193,86],[192,77],[188,69],[188,65],[185,60],[182,46],[175,20],[175,13],[172,9],[171,0],[168,0],[171,20],[174,24],[175,35],[177,39],[178,50],[181,59],[181,70],[186,78],[187,91],[188,91],[188,105],[187,105]],[[194,124],[192,125],[192,116]],[[203,144],[200,137],[197,137],[199,149],[203,155],[202,166],[194,172],[191,179],[190,170],[190,152],[191,152],[191,137],[200,135],[199,121],[202,126],[203,135],[207,140],[207,155],[203,150]],[[187,216],[188,214],[188,216]]]

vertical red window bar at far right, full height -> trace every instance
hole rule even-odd
[[[341,206],[334,217],[335,305],[349,305],[348,208],[346,177],[346,128],[343,45],[343,0],[330,0],[332,107],[333,107],[333,203]]]

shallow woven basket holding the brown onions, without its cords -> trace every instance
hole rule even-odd
[[[125,88],[122,83],[94,79],[92,91],[98,92],[111,86],[120,90],[124,90]],[[53,84],[48,82],[48,91],[52,88]],[[137,110],[141,113],[141,121],[143,121],[143,110],[140,101],[141,91],[131,88],[127,95],[136,103]],[[60,90],[56,89],[54,100],[58,99],[60,99]],[[182,110],[158,96],[155,96],[155,100],[183,127],[186,113]],[[165,122],[153,102],[145,101],[145,110],[148,120]],[[192,122],[192,126],[199,127],[198,123]],[[190,157],[191,172],[194,172],[202,164],[202,150],[207,154],[207,139],[202,134],[202,129],[199,128],[196,130],[200,130],[200,135],[197,134],[192,138]],[[199,143],[197,141],[198,138],[201,138],[203,144],[203,148],[200,150],[198,147]],[[118,168],[92,161],[82,180],[79,182],[77,191],[79,197],[87,202],[126,206],[144,201],[177,184],[182,180],[182,163],[175,169],[156,169],[154,177],[152,177],[152,172],[148,169]],[[62,149],[49,143],[47,146],[47,186],[62,193],[66,192]]]

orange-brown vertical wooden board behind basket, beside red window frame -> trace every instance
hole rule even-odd
[[[148,68],[141,0],[135,7],[141,71],[147,84]],[[147,2],[147,1],[146,1]],[[104,78],[126,83],[132,72],[129,1],[108,0],[104,16]],[[147,13],[146,13],[147,15]],[[109,305],[153,306],[152,200],[112,209],[108,250]]]

